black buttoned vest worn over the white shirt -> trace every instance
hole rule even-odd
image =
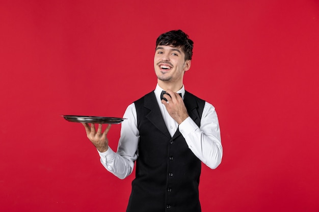
[[[197,126],[205,101],[185,91],[184,104]],[[155,94],[135,102],[140,141],[136,178],[127,212],[199,212],[201,161],[189,149],[179,130],[171,137]]]

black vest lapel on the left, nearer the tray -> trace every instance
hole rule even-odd
[[[165,136],[171,138],[171,135],[166,128],[161,110],[159,110],[154,92],[145,96],[144,106],[150,110],[146,115],[146,118],[149,119],[158,130],[164,133]]]

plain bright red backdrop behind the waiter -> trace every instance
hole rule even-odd
[[[134,174],[104,170],[60,115],[121,117],[178,28],[195,42],[185,87],[216,107],[224,147],[203,211],[319,210],[318,1],[1,1],[0,21],[1,211],[125,210]]]

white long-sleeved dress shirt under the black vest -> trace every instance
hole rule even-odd
[[[221,143],[220,129],[217,113],[214,106],[205,102],[201,117],[200,128],[191,117],[185,119],[179,126],[169,115],[166,107],[161,102],[162,88],[156,85],[154,90],[159,109],[161,109],[166,127],[173,136],[179,128],[181,135],[185,138],[189,148],[194,155],[211,169],[215,169],[222,160],[223,147]],[[177,92],[184,98],[184,86]],[[115,153],[109,146],[104,153],[99,153],[103,166],[120,179],[131,174],[134,162],[138,158],[139,130],[137,128],[137,112],[135,104],[130,104],[123,115],[121,136]]]

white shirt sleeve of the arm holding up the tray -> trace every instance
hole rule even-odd
[[[98,154],[102,165],[120,179],[124,179],[132,173],[134,162],[138,157],[139,131],[137,129],[137,113],[135,104],[126,108],[123,115],[125,119],[121,126],[121,136],[115,153],[111,147]]]

